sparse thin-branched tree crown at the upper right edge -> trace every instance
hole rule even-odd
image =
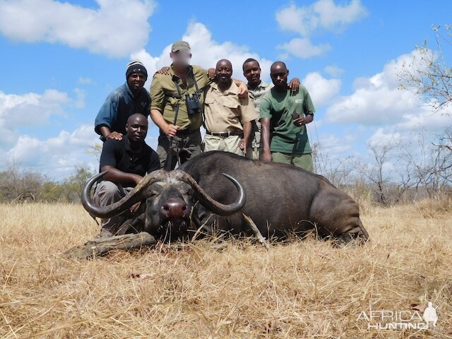
[[[436,111],[452,103],[452,68],[446,65],[444,47],[452,46],[452,25],[433,26],[436,51],[429,48],[427,40],[416,46],[412,61],[403,64],[398,73],[400,88],[420,95]]]

